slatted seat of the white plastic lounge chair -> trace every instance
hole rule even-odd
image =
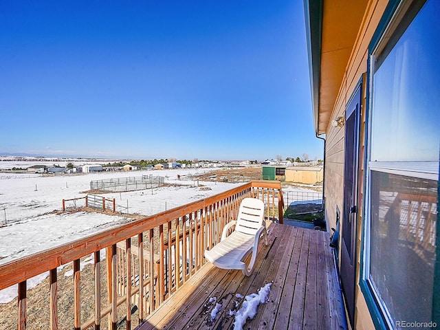
[[[242,260],[252,250],[255,239],[258,239],[255,235],[232,232],[227,239],[206,250],[205,258],[225,270],[244,270],[246,265]]]

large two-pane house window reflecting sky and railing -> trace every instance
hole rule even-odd
[[[422,2],[401,1],[371,52],[369,71],[361,285],[391,329],[432,322],[435,299],[440,1]]]

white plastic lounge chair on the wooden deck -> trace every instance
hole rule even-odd
[[[205,258],[223,270],[241,270],[246,276],[252,274],[259,246],[259,237],[264,234],[267,245],[267,231],[263,221],[264,203],[260,199],[245,198],[241,201],[239,216],[223,228],[221,241],[211,250],[205,250]],[[228,230],[235,225],[228,236]],[[252,252],[249,266],[243,262]]]

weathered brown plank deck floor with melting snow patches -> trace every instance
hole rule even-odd
[[[204,265],[138,329],[233,329],[229,311],[244,300],[236,294],[256,293],[266,283],[272,283],[268,301],[243,329],[346,329],[329,234],[274,223],[268,232],[252,276]],[[212,297],[222,306],[213,321]]]

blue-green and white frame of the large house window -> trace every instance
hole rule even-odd
[[[375,33],[371,39],[369,45],[369,56],[367,59],[367,73],[366,73],[366,135],[365,135],[365,157],[364,164],[364,208],[362,210],[362,219],[364,223],[361,226],[361,249],[360,249],[360,289],[366,300],[366,305],[369,308],[371,318],[376,329],[395,329],[395,325],[391,322],[391,316],[388,314],[386,305],[380,300],[376,288],[372,285],[370,276],[370,256],[371,256],[371,216],[369,214],[371,210],[371,171],[381,171],[386,173],[392,173],[397,175],[405,175],[410,177],[419,177],[423,179],[439,179],[439,162],[432,162],[432,164],[422,164],[421,162],[371,162],[371,126],[372,126],[372,104],[373,104],[373,78],[375,75],[375,54],[378,51],[384,50],[388,43],[393,42],[390,39],[395,37],[396,27],[401,23],[402,17],[406,14],[406,10],[410,5],[408,3],[415,3],[414,1],[405,0],[391,0],[380,23],[377,25]],[[426,3],[426,1],[419,1],[422,4],[420,8]],[[419,5],[420,3],[417,3]],[[390,31],[391,35],[390,35]],[[406,31],[406,29],[405,29]],[[404,33],[404,32],[402,32]],[[389,39],[387,39],[387,37]],[[388,56],[388,54],[386,55]],[[385,58],[386,58],[385,56]],[[384,61],[384,60],[382,60]],[[440,186],[439,186],[440,190]],[[437,208],[439,205],[437,204]],[[438,214],[437,214],[438,217]],[[437,221],[437,227],[439,223]],[[435,272],[436,270],[434,270]]]

